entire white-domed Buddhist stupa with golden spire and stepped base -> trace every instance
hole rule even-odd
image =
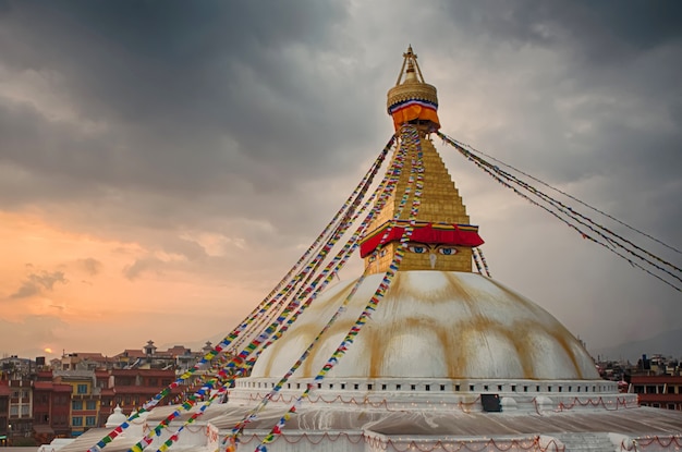
[[[682,413],[619,393],[560,321],[474,271],[483,239],[431,142],[437,90],[412,48],[387,107],[393,179],[358,244],[363,274],[316,295],[227,402],[191,428],[199,405],[175,417],[149,448],[184,429],[175,450],[679,450]]]

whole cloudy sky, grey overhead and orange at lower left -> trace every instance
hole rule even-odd
[[[221,339],[388,141],[409,44],[444,133],[681,249],[681,20],[644,0],[0,0],[0,353]],[[492,277],[588,349],[680,328],[680,292],[438,146]]]

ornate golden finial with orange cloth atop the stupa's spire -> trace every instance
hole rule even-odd
[[[424,125],[427,132],[440,129],[436,88],[424,82],[412,45],[403,53],[398,82],[388,91],[387,107],[395,130],[406,122]]]

